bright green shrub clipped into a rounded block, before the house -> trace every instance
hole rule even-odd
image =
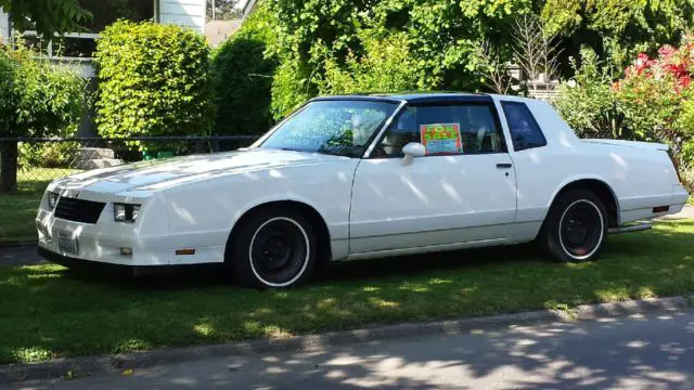
[[[102,32],[94,56],[101,135],[210,132],[209,48],[202,35],[175,25],[119,21]]]

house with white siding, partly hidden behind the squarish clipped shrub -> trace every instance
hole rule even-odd
[[[93,14],[86,26],[88,31],[68,32],[52,40],[47,47],[47,55],[51,60],[72,60],[69,62],[73,64],[81,64],[83,74],[88,77],[93,76],[90,63],[95,39],[106,26],[119,18],[177,24],[201,34],[205,30],[206,0],[79,0],[79,3]],[[9,15],[0,11],[2,40],[8,42],[12,34]],[[24,31],[23,36],[29,44],[38,42],[36,31]]]

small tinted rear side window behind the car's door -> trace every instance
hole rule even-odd
[[[514,151],[517,152],[547,145],[547,140],[544,139],[544,134],[542,134],[540,126],[525,103],[502,102],[501,106],[506,116]]]

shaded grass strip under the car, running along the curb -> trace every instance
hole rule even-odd
[[[609,237],[592,263],[493,248],[336,264],[309,286],[271,291],[204,274],[0,268],[0,363],[684,294],[694,290],[693,242],[694,220],[661,222]]]

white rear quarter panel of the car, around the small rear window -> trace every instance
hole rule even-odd
[[[507,100],[527,104],[548,141],[543,147],[511,152],[517,178],[517,222],[542,221],[558,192],[583,179],[611,187],[620,223],[643,218],[633,210],[651,211],[673,202],[677,176],[665,152],[583,142],[548,103]],[[500,115],[509,133],[502,109]]]

